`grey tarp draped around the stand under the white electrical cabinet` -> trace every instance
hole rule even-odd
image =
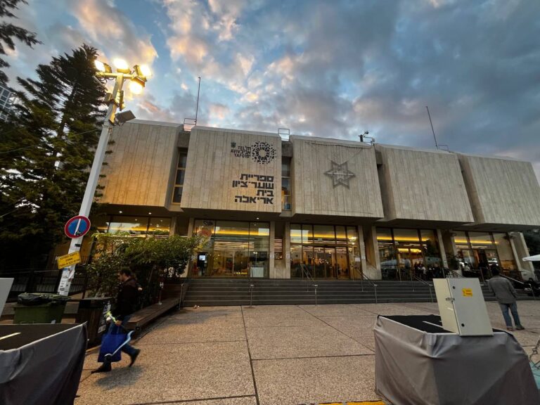
[[[513,335],[427,333],[385,316],[378,316],[374,331],[375,390],[393,405],[540,403],[527,355]]]

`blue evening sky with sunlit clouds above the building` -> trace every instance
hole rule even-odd
[[[540,178],[540,1],[28,0],[15,78],[83,43],[148,64],[137,118],[501,155]]]

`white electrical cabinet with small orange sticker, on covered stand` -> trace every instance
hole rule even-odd
[[[442,327],[461,336],[493,335],[477,278],[434,278]]]

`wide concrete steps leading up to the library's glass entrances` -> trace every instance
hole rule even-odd
[[[253,305],[315,304],[363,304],[371,302],[437,302],[435,290],[420,281],[341,281],[315,280],[307,283],[301,279],[254,279]],[[431,290],[431,294],[430,294]],[[486,300],[494,300],[482,287]],[[531,300],[525,293],[520,299]],[[193,278],[184,299],[184,307],[249,305],[250,283],[248,279]]]

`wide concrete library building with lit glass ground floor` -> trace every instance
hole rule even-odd
[[[134,120],[113,131],[99,231],[208,237],[189,277],[534,277],[529,162]]]

